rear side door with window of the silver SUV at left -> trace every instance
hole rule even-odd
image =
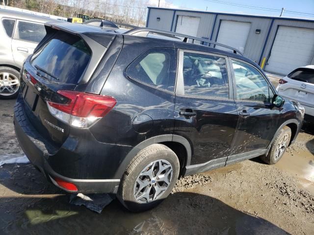
[[[26,57],[34,52],[37,44],[45,35],[44,24],[17,20],[12,39],[14,62],[22,65]]]

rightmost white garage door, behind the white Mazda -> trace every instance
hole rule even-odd
[[[288,74],[309,65],[314,55],[314,29],[279,26],[265,70]]]

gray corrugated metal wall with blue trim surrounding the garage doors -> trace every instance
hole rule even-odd
[[[200,17],[198,37],[216,41],[220,23],[223,20],[251,23],[251,29],[244,49],[244,55],[261,65],[262,58],[269,55],[279,25],[314,28],[313,21],[276,19],[267,17],[237,16],[233,14],[206,13],[176,9],[149,8],[148,27],[175,31],[178,16]],[[160,21],[157,21],[160,17]],[[271,28],[270,28],[271,27]],[[256,29],[261,33],[256,34]],[[314,58],[312,63],[314,64]]]

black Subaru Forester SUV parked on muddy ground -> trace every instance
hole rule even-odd
[[[148,28],[45,27],[21,71],[15,131],[68,192],[113,193],[144,211],[180,176],[258,156],[275,164],[300,131],[303,107],[235,49]]]

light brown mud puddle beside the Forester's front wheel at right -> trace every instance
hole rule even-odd
[[[311,152],[301,150],[298,157],[285,153],[275,166],[294,175],[299,180],[300,188],[314,194],[314,155]]]

